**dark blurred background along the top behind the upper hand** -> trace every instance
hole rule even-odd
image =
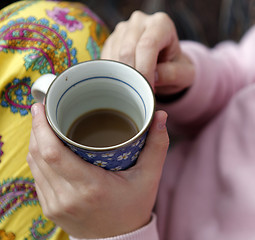
[[[70,0],[71,2],[75,2]],[[76,0],[77,1],[77,0]],[[0,0],[0,8],[13,3]],[[180,39],[214,46],[219,41],[238,41],[255,22],[255,0],[80,0],[110,27],[127,20],[134,10],[164,11],[174,20]]]

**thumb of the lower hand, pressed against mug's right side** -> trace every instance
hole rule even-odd
[[[142,150],[136,167],[146,172],[161,174],[161,170],[169,147],[169,137],[166,128],[167,113],[155,113],[144,149]]]

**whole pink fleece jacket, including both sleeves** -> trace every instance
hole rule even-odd
[[[170,148],[152,221],[107,240],[255,239],[255,27],[239,44],[181,45],[195,83],[163,109],[190,135]]]

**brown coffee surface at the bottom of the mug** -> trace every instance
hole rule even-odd
[[[138,127],[127,115],[113,109],[99,109],[76,119],[67,137],[90,147],[109,147],[123,143],[137,133]]]

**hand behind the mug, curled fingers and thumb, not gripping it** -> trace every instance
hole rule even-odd
[[[175,25],[165,13],[134,12],[116,26],[101,57],[136,68],[159,95],[180,92],[193,83],[193,64],[182,53]]]

